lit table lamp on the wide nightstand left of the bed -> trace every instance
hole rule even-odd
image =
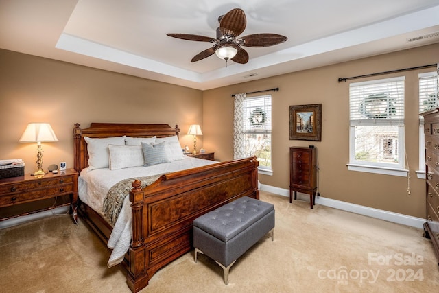
[[[41,142],[58,141],[54,130],[52,130],[48,123],[29,123],[20,140],[21,143],[37,143],[36,148],[36,165],[38,170],[34,173],[34,176],[43,176],[43,149],[41,148]]]

